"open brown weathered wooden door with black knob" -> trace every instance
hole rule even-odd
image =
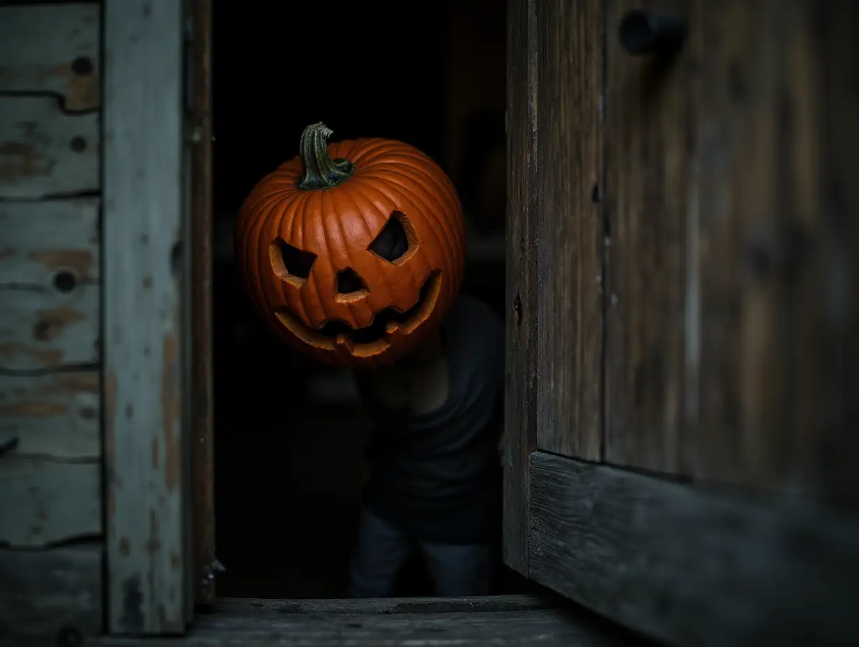
[[[859,8],[508,29],[506,563],[668,644],[856,639]]]

